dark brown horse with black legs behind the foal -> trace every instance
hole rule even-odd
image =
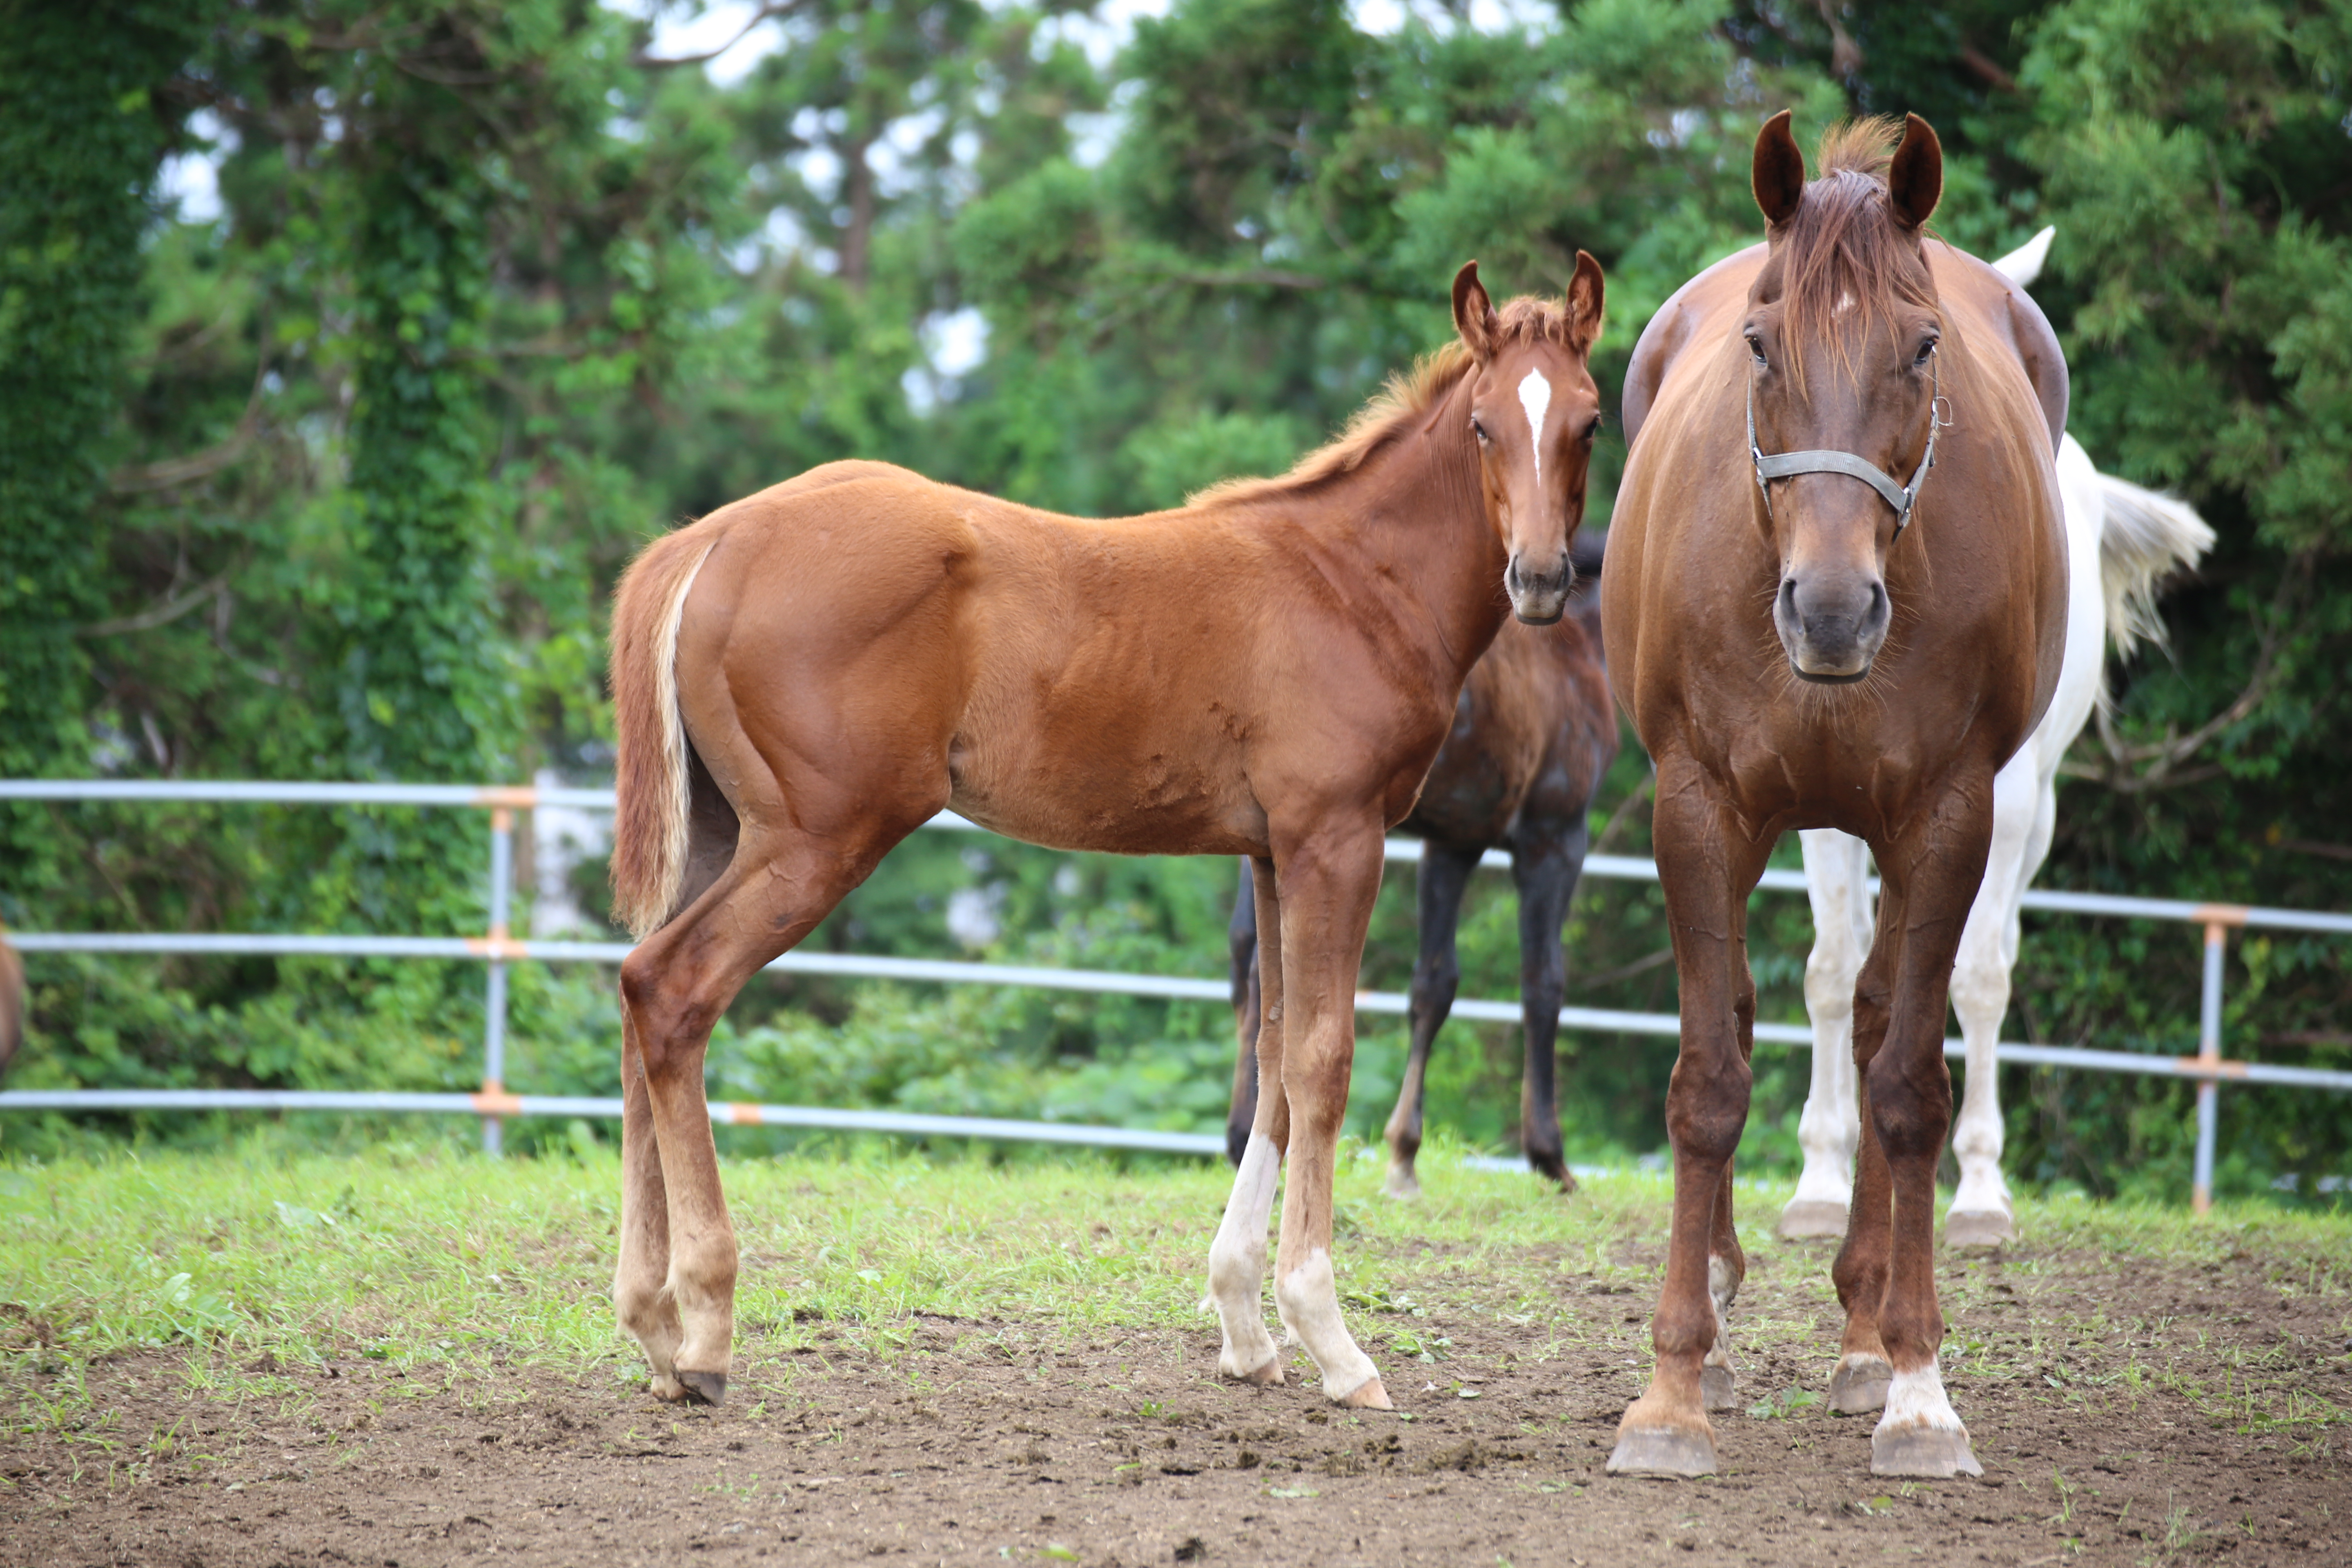
[[[1616,710],[1602,663],[1599,574],[1604,538],[1578,534],[1571,548],[1576,590],[1555,625],[1510,621],[1470,670],[1454,729],[1430,764],[1414,813],[1397,832],[1423,842],[1418,882],[1421,957],[1414,964],[1411,1053],[1388,1117],[1388,1192],[1414,1197],[1421,1178],[1421,1112],[1428,1100],[1430,1041],[1454,1011],[1461,924],[1470,872],[1489,849],[1510,851],[1519,889],[1519,1004],[1526,1013],[1526,1070],[1519,1084],[1519,1147],[1526,1164],[1566,1190],[1576,1178],[1562,1159],[1555,1051],[1559,1001],[1569,987],[1559,926],[1585,867],[1585,813],[1602,773],[1616,759]],[[1232,1063],[1232,1110],[1225,1154],[1240,1164],[1258,1110],[1258,905],[1242,860],[1232,905],[1232,1016],[1240,1053]]]

